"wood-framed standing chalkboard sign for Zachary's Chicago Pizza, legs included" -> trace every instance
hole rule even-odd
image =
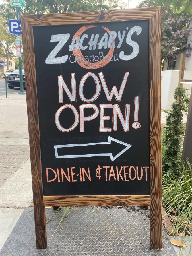
[[[120,204],[160,218],[160,8],[23,15],[22,32],[35,219]]]

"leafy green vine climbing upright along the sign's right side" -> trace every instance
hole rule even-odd
[[[177,161],[181,160],[181,135],[184,135],[183,111],[189,108],[189,97],[184,87],[177,87],[174,91],[175,101],[172,103],[171,111],[166,111],[166,127],[162,144],[162,171],[168,175],[178,175]],[[179,95],[179,99],[177,96]]]

